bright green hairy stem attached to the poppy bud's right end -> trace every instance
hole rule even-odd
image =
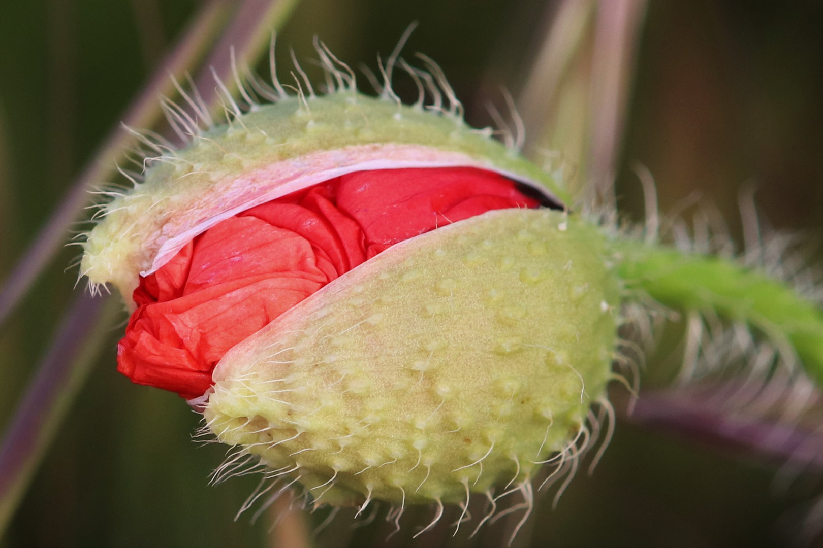
[[[786,283],[717,256],[630,240],[612,244],[627,289],[665,306],[714,311],[750,325],[779,347],[790,345],[809,375],[823,380],[823,311]]]

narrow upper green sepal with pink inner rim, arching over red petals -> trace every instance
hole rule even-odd
[[[258,107],[149,159],[145,181],[105,206],[84,244],[81,274],[113,283],[128,305],[138,275],[165,264],[222,219],[362,169],[463,166],[490,169],[569,202],[559,179],[491,133],[352,92]]]

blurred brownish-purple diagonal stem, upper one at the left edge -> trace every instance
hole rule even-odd
[[[123,116],[123,123],[130,127],[153,127],[160,120],[162,111],[157,100],[160,94],[171,95],[174,92],[169,75],[183,76],[193,66],[213,36],[220,30],[221,21],[225,19],[229,2],[212,0],[208,2],[188,26],[183,39],[165,58],[146,87],[137,96]],[[0,325],[12,313],[49,261],[66,241],[72,223],[84,214],[84,208],[91,201],[88,191],[95,184],[105,182],[117,173],[117,163],[124,154],[137,144],[135,137],[121,127],[114,127],[100,146],[93,159],[86,164],[77,177],[77,181],[68,190],[57,210],[48,223],[40,229],[21,260],[12,269],[12,273],[0,289]]]

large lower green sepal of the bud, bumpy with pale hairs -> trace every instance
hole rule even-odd
[[[205,419],[318,503],[459,502],[530,477],[607,384],[602,235],[500,210],[393,246],[230,350]]]

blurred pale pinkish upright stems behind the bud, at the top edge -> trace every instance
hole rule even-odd
[[[574,196],[582,188],[602,195],[613,182],[645,7],[561,2],[518,97],[528,154],[560,154],[574,168],[566,174]]]

